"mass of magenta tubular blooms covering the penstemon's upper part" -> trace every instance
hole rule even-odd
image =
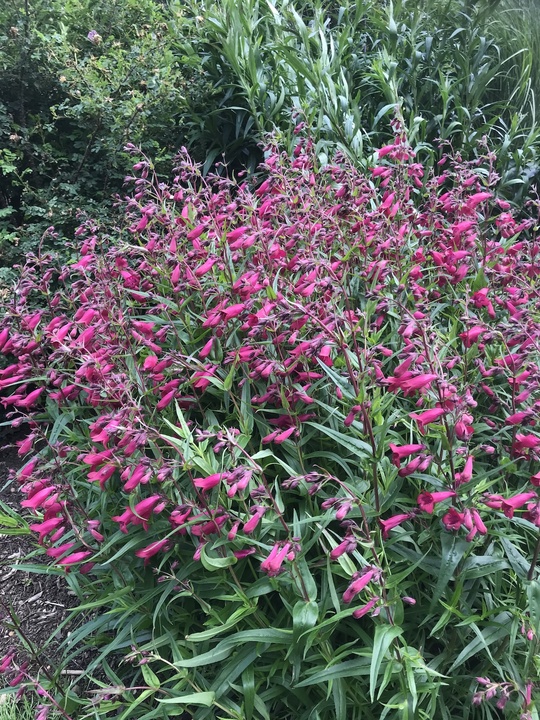
[[[336,612],[394,626],[418,607],[392,582],[415,543],[495,562],[501,527],[537,532],[533,222],[489,163],[430,173],[394,128],[367,174],[271,144],[255,189],[185,154],[158,183],[137,157],[123,231],[86,221],[71,264],[29,257],[1,402],[57,566],[176,578],[188,558],[305,603],[328,566]]]

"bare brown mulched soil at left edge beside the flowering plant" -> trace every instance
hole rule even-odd
[[[10,474],[10,470],[23,464],[14,446],[15,439],[11,436],[0,441],[3,445],[0,446],[0,501],[19,512],[23,498],[11,482]],[[13,444],[5,445],[6,442]],[[2,534],[0,523],[0,659],[9,650],[16,649],[17,663],[28,660],[36,670],[39,666],[56,665],[58,647],[68,629],[63,628],[50,643],[47,641],[66,618],[69,608],[77,605],[63,577],[18,569],[24,563],[35,565],[46,561],[43,555],[28,558],[37,548],[36,541],[29,535]],[[27,644],[32,649],[25,647]]]

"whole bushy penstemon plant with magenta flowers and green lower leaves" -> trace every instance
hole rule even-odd
[[[256,188],[129,146],[124,227],[28,257],[0,387],[73,716],[538,718],[537,205],[392,127]]]

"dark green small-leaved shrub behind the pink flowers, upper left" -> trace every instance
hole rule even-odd
[[[63,248],[78,211],[97,216],[130,170],[127,140],[167,172],[187,108],[212,92],[182,57],[155,0],[17,0],[0,9],[0,268],[35,251],[53,222]],[[204,148],[199,148],[204,152]],[[52,238],[47,236],[50,244]],[[0,281],[2,277],[0,276]]]

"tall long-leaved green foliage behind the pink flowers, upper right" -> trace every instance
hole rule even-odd
[[[400,104],[416,144],[442,138],[470,155],[489,136],[507,186],[534,164],[532,48],[509,41],[487,0],[203,0],[193,13],[193,42],[228,98],[210,116],[233,106],[237,141],[277,128],[290,147],[300,117],[320,154],[364,162]]]

